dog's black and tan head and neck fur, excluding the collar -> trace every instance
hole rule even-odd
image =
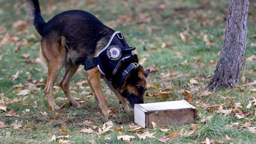
[[[136,54],[122,61],[120,66],[118,66],[114,72],[119,73],[120,71],[123,71],[133,62],[138,62]],[[134,104],[144,103],[143,95],[147,89],[146,78],[149,73],[149,69],[144,71],[142,66],[138,66],[125,77],[123,84],[117,88],[118,92],[130,102],[132,108],[134,108]]]

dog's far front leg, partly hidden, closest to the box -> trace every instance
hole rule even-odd
[[[106,82],[106,84],[108,85],[108,87],[115,93],[115,95],[119,98],[119,102],[121,104],[121,107],[123,108],[123,110],[125,112],[132,112],[133,110],[129,108],[128,104],[127,104],[127,100],[125,97],[121,96],[121,94],[112,86],[112,84],[110,82],[108,82],[108,80],[104,77],[103,78],[104,81]]]

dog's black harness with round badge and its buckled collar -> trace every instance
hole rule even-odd
[[[123,85],[125,77],[139,65],[137,63],[131,63],[124,71],[121,72],[118,78],[114,78],[113,70],[117,64],[122,60],[132,56],[132,51],[136,47],[130,47],[125,41],[121,32],[115,32],[108,44],[97,53],[96,57],[89,58],[85,61],[85,70],[89,70],[95,66],[98,67],[101,74],[105,75],[106,79],[112,83],[115,79],[116,86]]]

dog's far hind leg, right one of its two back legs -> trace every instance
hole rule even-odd
[[[65,93],[67,99],[70,102],[71,106],[78,106],[79,104],[75,101],[75,99],[72,97],[70,90],[69,90],[69,82],[71,77],[75,74],[77,71],[79,65],[74,65],[72,63],[67,63],[65,73],[59,81],[59,86],[62,88],[63,92]]]

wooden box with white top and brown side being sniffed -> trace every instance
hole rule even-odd
[[[192,124],[196,117],[196,109],[185,100],[167,101],[147,104],[135,104],[134,121],[146,128],[157,126]]]

